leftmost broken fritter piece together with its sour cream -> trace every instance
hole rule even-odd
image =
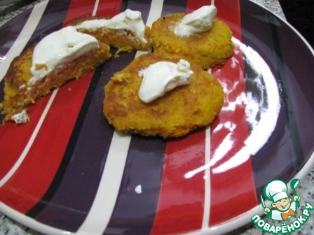
[[[66,27],[15,57],[4,77],[4,121],[25,123],[25,108],[68,80],[81,78],[111,57],[109,45]]]

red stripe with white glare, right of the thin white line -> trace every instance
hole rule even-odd
[[[217,17],[240,39],[240,6],[238,1],[215,1]],[[248,136],[245,115],[245,76],[243,55],[239,48],[224,66],[212,69],[226,91],[224,107],[212,124],[211,134],[211,201],[209,225],[217,225],[245,213],[257,205],[250,153],[241,151]],[[235,155],[242,162],[232,162]]]

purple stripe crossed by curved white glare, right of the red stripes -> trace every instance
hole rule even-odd
[[[276,55],[273,53],[273,37],[267,10],[249,1],[240,1],[240,9],[243,43],[256,50],[264,58],[278,82]],[[252,17],[251,14],[259,15],[259,17]],[[245,64],[245,72],[247,73],[246,76],[252,76],[247,64]],[[250,81],[252,80],[247,78],[247,92],[251,89],[253,94],[261,94],[261,90],[252,89]],[[280,99],[282,99],[282,95],[280,92]],[[278,124],[273,134],[264,147],[252,156],[257,194],[261,194],[268,180],[274,178],[287,180],[296,173],[295,159],[292,155],[292,141],[289,138],[289,131],[285,128],[286,125],[285,106],[282,105]]]

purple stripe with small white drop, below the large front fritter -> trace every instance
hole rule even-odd
[[[128,4],[131,9],[138,6]],[[185,12],[185,6],[182,1],[164,1],[161,15]],[[163,138],[132,136],[118,199],[104,234],[149,234],[158,205],[166,144]]]

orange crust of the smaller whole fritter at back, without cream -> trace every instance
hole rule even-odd
[[[233,55],[232,32],[228,25],[214,19],[212,29],[193,36],[177,36],[174,29],[185,13],[165,15],[153,22],[151,38],[153,50],[180,55],[203,69],[223,64]]]

